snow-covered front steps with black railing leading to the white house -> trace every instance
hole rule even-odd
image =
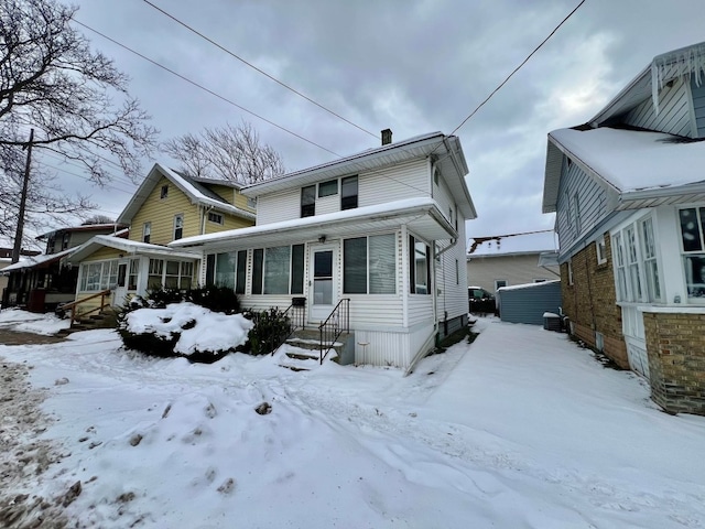
[[[334,343],[325,344],[326,348],[333,346],[324,361],[332,360],[340,364],[347,342],[351,334],[344,333]],[[325,349],[324,349],[325,353]],[[294,371],[310,371],[321,366],[321,334],[317,330],[300,330],[286,339],[278,352],[279,365]]]

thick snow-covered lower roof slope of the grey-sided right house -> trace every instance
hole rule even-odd
[[[620,193],[704,182],[703,141],[609,127],[554,130],[549,141]]]

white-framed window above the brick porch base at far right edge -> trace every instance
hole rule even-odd
[[[705,207],[679,210],[688,301],[705,301]]]

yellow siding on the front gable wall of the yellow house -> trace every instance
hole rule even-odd
[[[163,185],[169,185],[166,198],[160,198]],[[198,206],[192,204],[171,181],[162,177],[132,217],[130,240],[141,241],[144,223],[152,223],[150,242],[167,245],[174,240],[174,215],[177,214],[184,215],[184,237],[200,235]]]

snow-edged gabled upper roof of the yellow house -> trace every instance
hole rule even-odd
[[[195,179],[193,176],[182,175],[176,171],[155,163],[140,187],[138,187],[138,190],[134,192],[134,195],[132,195],[132,198],[130,198],[128,205],[118,217],[118,222],[124,224],[130,223],[140,207],[142,207],[142,204],[144,204],[144,201],[158,184],[162,175],[169,179],[176,187],[178,187],[186,196],[188,196],[192,204],[202,204],[204,206],[213,207],[219,212],[228,213],[230,215],[237,215],[250,220],[253,220],[256,218],[253,213],[234,206],[213,191],[200,185],[202,183],[209,183],[207,179]],[[234,190],[240,188],[239,184],[225,180],[218,181],[218,185],[232,187]]]

